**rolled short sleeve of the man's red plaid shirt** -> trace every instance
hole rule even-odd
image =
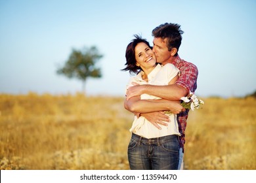
[[[198,68],[196,65],[187,62],[180,70],[181,75],[175,84],[185,88],[188,93],[195,92],[197,87],[196,80],[198,79]]]

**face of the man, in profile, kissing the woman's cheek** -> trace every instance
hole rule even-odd
[[[160,37],[154,37],[153,44],[153,52],[156,55],[156,61],[163,65],[171,63],[171,52],[168,51],[166,39],[162,41]]]

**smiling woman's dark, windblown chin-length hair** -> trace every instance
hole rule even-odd
[[[135,39],[133,39],[126,48],[125,58],[127,65],[125,69],[121,69],[121,71],[129,71],[130,74],[135,73],[138,74],[141,71],[141,68],[136,65],[137,61],[135,59],[135,46],[140,42],[144,42],[148,47],[152,48],[146,39],[142,39],[140,35],[134,35]]]

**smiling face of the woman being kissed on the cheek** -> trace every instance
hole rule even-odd
[[[156,56],[148,45],[144,42],[140,42],[135,46],[135,59],[136,65],[140,66],[145,71],[151,71],[156,65]]]

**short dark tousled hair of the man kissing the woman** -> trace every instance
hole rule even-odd
[[[162,40],[167,38],[166,44],[168,50],[171,51],[172,48],[177,48],[177,54],[175,54],[175,56],[177,56],[183,33],[181,25],[165,23],[153,29],[152,36],[160,37]]]

